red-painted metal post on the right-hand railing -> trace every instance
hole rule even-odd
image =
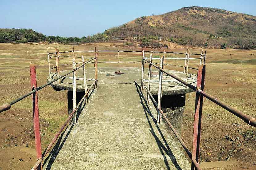
[[[205,65],[198,66],[197,72],[197,84],[196,90],[204,90],[204,79],[205,78]],[[194,132],[193,132],[193,149],[192,149],[192,160],[196,160],[199,163],[199,151],[200,151],[200,137],[201,137],[201,123],[202,123],[202,106],[203,96],[196,93],[195,102],[195,117],[194,117]],[[191,164],[191,170],[195,169],[195,165]]]

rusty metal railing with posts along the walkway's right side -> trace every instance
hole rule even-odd
[[[202,51],[203,53],[203,51]],[[189,53],[188,53],[189,56]],[[186,57],[187,58],[187,57]],[[189,58],[189,57],[188,57]],[[199,154],[200,154],[200,137],[201,137],[201,122],[202,122],[202,107],[203,107],[203,97],[209,99],[210,101],[213,101],[217,105],[221,106],[225,110],[229,111],[230,113],[233,113],[235,116],[239,117],[243,121],[245,121],[247,124],[256,127],[256,119],[251,117],[250,115],[246,115],[242,113],[241,111],[233,108],[232,106],[227,105],[226,103],[220,101],[219,99],[211,96],[210,94],[206,93],[204,91],[204,84],[205,84],[205,55],[204,55],[204,62],[202,63],[202,58],[200,58],[200,65],[198,65],[197,69],[197,85],[194,86],[187,81],[184,81],[183,79],[175,76],[172,73],[168,73],[167,70],[163,69],[163,63],[164,63],[164,56],[161,56],[160,58],[160,65],[157,66],[154,63],[152,63],[152,53],[149,57],[149,61],[147,60],[143,53],[142,58],[142,79],[141,79],[141,88],[143,89],[143,86],[147,90],[147,103],[149,103],[149,99],[151,98],[151,101],[155,105],[158,113],[157,113],[157,122],[160,123],[160,115],[162,115],[163,119],[167,122],[177,139],[179,140],[180,144],[184,148],[184,151],[187,153],[188,157],[192,160],[191,169],[194,170],[195,168],[197,170],[201,170],[199,167]],[[148,84],[146,87],[146,83],[143,80],[144,75],[144,61],[149,63],[149,72],[148,72]],[[188,59],[189,61],[189,59]],[[187,62],[188,62],[187,61]],[[158,101],[156,102],[154,97],[152,96],[150,92],[150,84],[151,84],[151,67],[155,67],[159,70],[159,89],[158,89]],[[186,67],[188,69],[188,66]],[[175,128],[171,125],[171,122],[167,119],[165,114],[163,113],[163,110],[161,109],[161,103],[162,103],[162,82],[163,82],[163,73],[166,73],[168,76],[174,78],[175,80],[181,82],[182,84],[186,85],[190,89],[196,92],[196,102],[195,102],[195,115],[194,115],[194,130],[193,130],[193,144],[192,144],[192,152],[189,151],[188,147],[184,143],[184,141],[181,139],[178,132],[175,130]]]

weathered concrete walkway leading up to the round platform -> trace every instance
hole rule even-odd
[[[77,124],[63,133],[43,169],[190,169],[165,125],[156,124],[154,117],[152,102],[146,104],[136,83],[99,81]]]

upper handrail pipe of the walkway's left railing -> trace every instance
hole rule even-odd
[[[92,61],[93,59],[95,59],[95,57],[92,58],[92,59],[89,60],[89,61],[86,61],[84,64],[82,64],[82,65],[76,67],[75,70],[80,69],[83,65],[85,65],[86,63]],[[43,89],[43,88],[46,87],[47,85],[50,85],[50,84],[52,84],[53,82],[55,82],[55,81],[57,81],[57,80],[59,80],[59,79],[65,77],[65,76],[67,76],[68,74],[72,73],[73,71],[74,71],[74,70],[72,70],[72,71],[70,71],[70,72],[64,74],[63,76],[60,76],[60,77],[56,78],[55,80],[52,80],[52,81],[50,81],[50,82],[48,82],[48,83],[46,83],[46,84],[44,84],[44,85],[42,85],[42,86],[40,86],[40,87],[38,87],[38,88],[32,90],[32,91],[30,91],[30,92],[27,93],[27,94],[24,94],[23,96],[21,96],[21,97],[15,99],[15,100],[13,100],[13,101],[11,101],[10,103],[7,103],[7,104],[4,104],[4,105],[0,106],[0,113],[3,112],[3,111],[9,110],[10,107],[11,107],[11,105],[13,105],[13,104],[15,104],[15,103],[21,101],[22,99],[24,99],[24,98],[30,96],[31,94],[35,93],[36,91]]]

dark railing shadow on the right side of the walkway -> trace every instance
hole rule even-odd
[[[150,126],[150,132],[151,132],[151,134],[154,136],[155,141],[156,141],[156,143],[158,144],[159,150],[160,150],[161,154],[162,154],[163,157],[164,157],[163,160],[164,160],[164,163],[165,163],[165,165],[166,165],[166,168],[167,168],[168,170],[171,170],[171,169],[170,169],[170,166],[169,166],[169,163],[168,163],[168,161],[167,161],[167,157],[166,157],[166,155],[164,155],[164,152],[165,152],[165,153],[168,155],[168,157],[171,159],[171,161],[172,161],[172,163],[174,164],[175,168],[177,168],[177,170],[182,170],[182,169],[180,168],[179,164],[177,163],[175,156],[174,156],[173,153],[171,152],[171,148],[170,148],[169,145],[167,144],[167,141],[165,140],[165,138],[164,138],[164,136],[163,136],[163,133],[161,132],[161,130],[160,130],[158,124],[157,124],[157,121],[156,121],[155,117],[152,115],[152,113],[151,113],[151,111],[150,111],[150,109],[149,109],[149,107],[148,107],[148,105],[147,105],[147,100],[145,99],[145,97],[144,97],[143,94],[142,94],[142,91],[141,91],[140,86],[139,86],[138,83],[136,83],[135,81],[134,81],[134,83],[135,83],[135,86],[136,86],[138,95],[139,95],[139,97],[140,97],[140,100],[141,100],[140,103],[141,103],[141,105],[143,106],[145,116],[146,116],[147,121],[148,121],[148,124],[149,124],[149,126]],[[143,101],[144,101],[144,102],[143,102]],[[151,121],[150,121],[149,119],[153,119],[154,124],[155,124],[155,126],[156,126],[156,128],[157,128],[159,134],[161,135],[161,137],[162,137],[162,139],[163,139],[164,144],[163,144],[163,143],[161,142],[161,140],[156,136],[155,131],[154,131],[154,128],[153,128],[153,126],[152,126],[152,124],[151,124]]]

